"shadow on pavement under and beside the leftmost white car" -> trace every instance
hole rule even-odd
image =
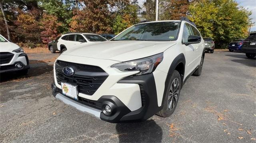
[[[53,70],[53,65],[48,65],[44,61],[29,60],[30,69],[28,69],[28,74],[22,75],[19,72],[8,72],[0,75],[0,82],[6,82],[9,80],[20,80],[22,78],[30,78],[34,76],[39,76],[46,72]]]

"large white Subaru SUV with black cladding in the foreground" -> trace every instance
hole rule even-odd
[[[111,41],[60,55],[53,95],[112,123],[168,117],[186,79],[201,74],[204,45],[187,18],[136,24]]]

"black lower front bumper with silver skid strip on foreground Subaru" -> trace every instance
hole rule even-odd
[[[52,84],[52,88],[53,95],[65,104],[111,123],[145,121],[162,109],[161,106],[158,106],[156,84],[154,75],[152,73],[142,76],[129,76],[120,80],[118,84],[123,84],[124,88],[126,84],[138,84],[138,86],[140,86],[141,100],[139,102],[141,102],[141,107],[139,109],[131,111],[119,98],[114,95],[103,95],[97,101],[90,100],[89,102],[100,103],[101,107],[96,109],[92,108],[93,106],[90,104],[87,104],[88,106],[83,104],[81,101],[86,99],[81,100],[81,97],[79,96],[78,100],[64,96],[61,94],[61,89],[59,89],[54,83]],[[104,107],[106,104],[112,109],[110,115],[104,114]]]

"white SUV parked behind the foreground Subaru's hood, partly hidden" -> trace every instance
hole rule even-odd
[[[67,33],[58,39],[57,48],[61,53],[80,45],[88,45],[108,41],[104,37],[93,33]]]

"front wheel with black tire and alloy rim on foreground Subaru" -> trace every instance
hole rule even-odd
[[[163,99],[164,100],[163,109],[159,111],[156,115],[161,117],[169,117],[173,114],[178,104],[178,100],[180,97],[180,90],[181,90],[180,73],[174,70],[170,78],[170,82],[168,84],[166,96]]]

